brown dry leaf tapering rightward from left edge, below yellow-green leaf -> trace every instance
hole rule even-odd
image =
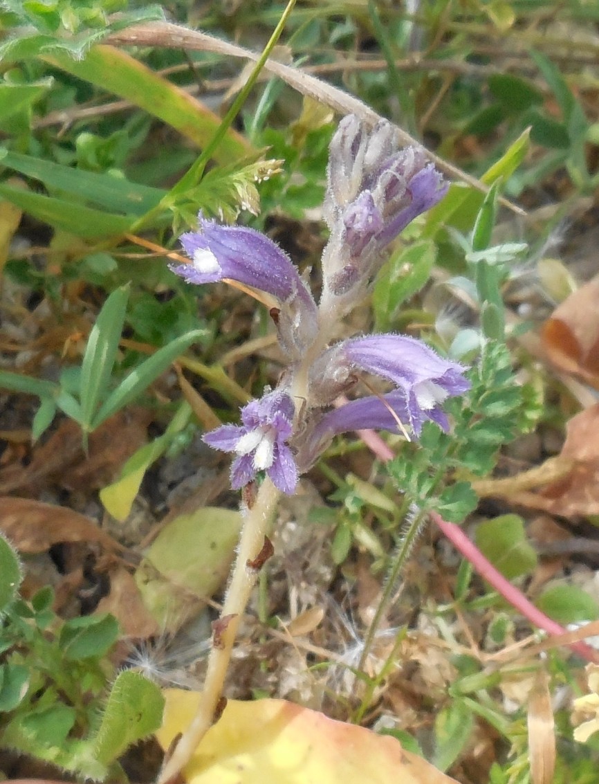
[[[26,498],[0,496],[0,530],[21,553],[44,553],[59,542],[96,542],[113,552],[122,549],[88,517]]]

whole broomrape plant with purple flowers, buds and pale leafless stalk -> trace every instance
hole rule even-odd
[[[447,431],[443,404],[470,389],[466,368],[417,339],[377,334],[339,340],[343,318],[364,299],[387,245],[445,195],[441,174],[422,150],[398,150],[389,122],[369,130],[350,115],[333,136],[327,176],[323,212],[330,238],[318,303],[274,242],[202,214],[198,230],[181,238],[191,263],[172,267],[195,285],[233,280],[273,296],[277,307],[270,314],[287,364],[275,389],[241,408],[241,425],[223,425],[204,437],[234,456],[231,486],[243,490],[244,527],[201,706],[165,765],[162,784],[187,763],[217,713],[240,615],[267,557],[278,496],[296,492],[300,475],[336,434],[368,428],[418,438],[427,420]],[[334,408],[364,374],[385,379],[393,389]]]

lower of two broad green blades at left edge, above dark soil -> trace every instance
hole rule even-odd
[[[0,196],[15,204],[42,223],[56,229],[68,231],[84,239],[112,237],[125,234],[133,224],[135,216],[114,215],[99,209],[84,207],[73,201],[34,194],[23,188],[0,184]]]

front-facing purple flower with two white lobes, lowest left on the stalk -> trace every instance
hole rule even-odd
[[[223,425],[205,434],[209,446],[237,455],[231,466],[234,490],[266,471],[281,492],[295,492],[297,467],[286,443],[292,435],[294,413],[291,397],[275,390],[241,408],[241,426]]]

